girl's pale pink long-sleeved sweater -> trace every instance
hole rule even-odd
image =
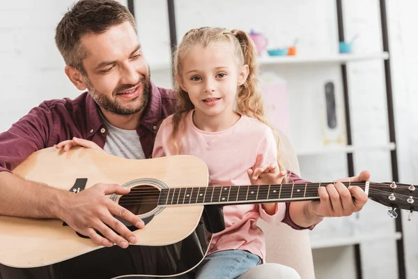
[[[209,169],[210,186],[249,185],[247,169],[277,165],[277,144],[272,130],[256,119],[241,116],[231,128],[205,132],[194,126],[192,112],[185,119],[182,154],[201,158]],[[153,157],[171,156],[172,117],[165,119],[157,133]],[[226,229],[214,234],[209,253],[240,249],[265,257],[263,232],[257,227],[261,218],[268,223],[284,219],[286,204],[276,204],[276,213],[268,215],[261,204],[224,206]]]

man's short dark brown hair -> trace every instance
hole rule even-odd
[[[55,43],[65,63],[86,75],[83,60],[86,49],[81,43],[86,34],[100,34],[123,22],[135,27],[135,20],[125,6],[114,0],[80,0],[68,9],[55,31]]]

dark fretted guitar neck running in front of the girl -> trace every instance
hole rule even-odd
[[[258,204],[319,199],[318,188],[330,183],[292,183],[251,186],[210,186],[162,189],[158,206],[185,204]],[[369,182],[343,182],[368,190]]]

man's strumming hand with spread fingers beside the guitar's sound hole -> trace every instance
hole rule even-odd
[[[127,248],[129,242],[136,243],[137,239],[130,229],[114,216],[127,220],[139,229],[144,227],[144,222],[132,212],[111,201],[106,195],[126,195],[129,192],[129,188],[116,184],[99,183],[77,194],[68,193],[69,195],[62,201],[63,207],[58,216],[72,229],[89,236],[98,245],[111,247],[116,243],[122,248]]]

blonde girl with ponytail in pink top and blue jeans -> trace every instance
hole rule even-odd
[[[286,172],[264,116],[256,57],[244,31],[188,31],[174,58],[178,109],[162,122],[153,157],[199,157],[208,165],[211,186],[281,183]],[[285,213],[283,203],[224,206],[226,229],[214,235],[195,278],[238,278],[261,264],[265,242],[256,222],[279,222]],[[283,278],[299,278],[281,267]]]

